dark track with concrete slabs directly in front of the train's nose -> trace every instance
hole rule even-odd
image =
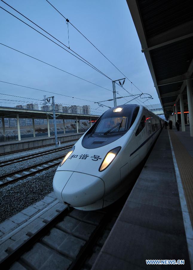
[[[27,234],[25,241],[19,239],[8,247],[1,269],[14,262],[27,269],[81,269],[84,264],[91,268],[87,261],[96,246],[102,247],[104,232],[110,232],[125,199],[102,211],[65,208],[37,232]]]

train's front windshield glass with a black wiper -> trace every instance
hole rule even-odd
[[[114,132],[124,132],[126,131],[126,126],[126,116],[103,118],[94,129],[93,134],[111,134]]]

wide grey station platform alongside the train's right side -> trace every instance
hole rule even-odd
[[[186,130],[162,130],[92,270],[193,269],[193,138]],[[147,265],[153,259],[184,265]]]

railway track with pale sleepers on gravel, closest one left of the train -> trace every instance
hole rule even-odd
[[[71,148],[71,147],[72,146],[69,146],[66,149]],[[65,157],[65,155],[63,155],[61,157],[53,158],[49,161],[44,161],[42,163],[27,167],[27,168],[24,168],[21,170],[17,170],[17,171],[12,172],[12,173],[7,173],[3,176],[0,176],[0,181],[4,181],[4,182],[0,182],[0,188],[7,186],[9,184],[16,183],[19,180],[23,180],[23,179],[25,179],[29,176],[33,176],[37,173],[41,173],[41,172],[48,170],[52,167],[58,166],[64,157]]]

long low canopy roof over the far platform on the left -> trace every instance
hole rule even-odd
[[[35,118],[35,119],[46,119],[47,115],[49,119],[53,119],[53,112],[45,112],[40,110],[27,110],[9,107],[0,107],[0,117],[16,118],[19,114],[19,118]],[[56,113],[57,119],[84,119],[84,120],[97,120],[99,115],[88,115],[88,114],[74,114],[74,113]]]

